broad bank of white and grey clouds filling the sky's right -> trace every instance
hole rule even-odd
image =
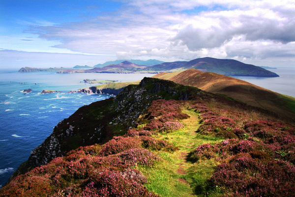
[[[116,12],[58,26],[31,26],[55,48],[118,58],[295,56],[295,2],[131,0]]]

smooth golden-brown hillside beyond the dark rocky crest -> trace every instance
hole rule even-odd
[[[282,94],[236,78],[196,69],[160,73],[153,77],[198,87],[212,93],[224,94],[248,105],[260,107],[291,119],[295,118],[294,109],[290,107],[295,103],[293,98],[290,99]]]

